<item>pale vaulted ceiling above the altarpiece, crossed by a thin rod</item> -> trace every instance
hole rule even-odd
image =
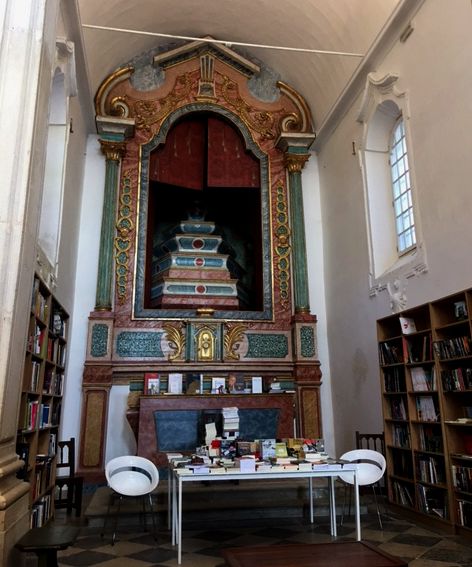
[[[365,54],[401,0],[78,0],[82,25]],[[83,27],[93,93],[136,55],[168,38]],[[239,49],[234,46],[235,49]],[[244,47],[307,100],[323,122],[360,57]]]

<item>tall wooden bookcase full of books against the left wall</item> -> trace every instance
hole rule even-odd
[[[68,319],[35,276],[17,434],[17,453],[25,462],[18,476],[31,484],[31,527],[44,525],[54,514]]]

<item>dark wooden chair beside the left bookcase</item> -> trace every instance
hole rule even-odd
[[[75,474],[75,438],[59,441],[56,463],[56,493],[54,506],[67,508],[67,514],[75,509],[75,515],[82,513],[82,491],[84,479]],[[64,471],[65,474],[60,474]]]

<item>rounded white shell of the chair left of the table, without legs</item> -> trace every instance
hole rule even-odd
[[[133,455],[108,461],[105,476],[110,488],[124,496],[149,494],[159,484],[156,465],[149,459]]]

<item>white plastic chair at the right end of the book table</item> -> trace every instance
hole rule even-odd
[[[348,451],[341,455],[341,461],[349,461],[350,463],[357,464],[357,481],[359,486],[372,486],[372,491],[374,494],[375,505],[377,507],[377,516],[379,518],[380,529],[383,530],[382,519],[380,517],[379,503],[377,500],[377,493],[375,491],[375,485],[383,477],[385,473],[385,468],[387,463],[385,457],[382,453],[378,451],[373,451],[371,449],[354,449]],[[346,483],[346,487],[349,486],[349,512],[351,509],[351,489],[353,485],[353,478],[351,474],[341,474],[339,478]],[[344,509],[346,505],[346,492],[344,492],[344,503],[343,503],[343,513],[341,517],[341,525],[344,520]]]

